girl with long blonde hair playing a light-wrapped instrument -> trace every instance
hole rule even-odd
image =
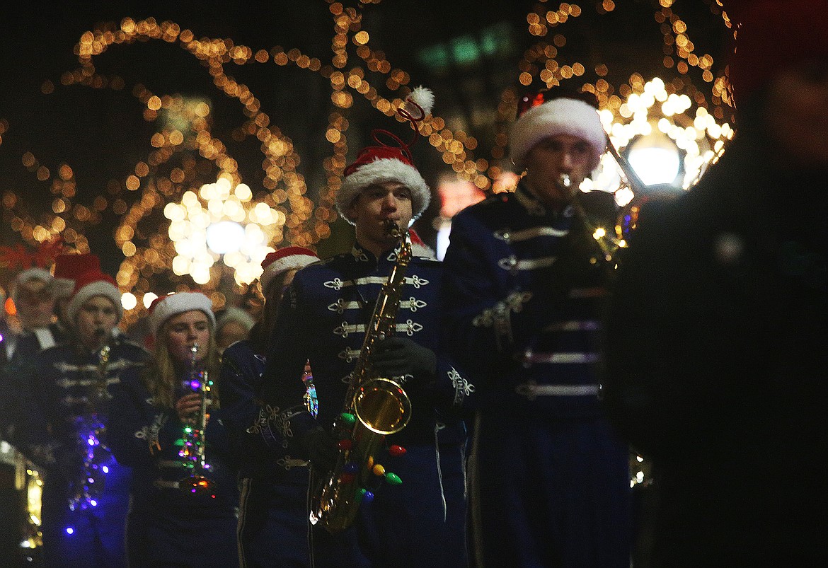
[[[129,565],[232,568],[238,490],[218,390],[209,387],[219,376],[213,303],[178,292],[150,307],[152,360],[123,378],[108,425],[118,463],[134,469]],[[188,457],[200,451],[205,464]]]

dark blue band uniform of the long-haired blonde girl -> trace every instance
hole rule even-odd
[[[238,490],[229,466],[226,413],[210,410],[205,432],[206,477],[213,490],[191,494],[185,482],[192,470],[179,456],[185,425],[174,410],[153,402],[142,372],[133,368],[122,378],[109,424],[113,453],[133,471],[130,565],[236,566]]]

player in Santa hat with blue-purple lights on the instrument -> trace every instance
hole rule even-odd
[[[74,275],[73,275],[74,276]],[[17,443],[46,471],[42,495],[46,566],[123,566],[132,470],[118,465],[105,424],[113,389],[147,353],[123,338],[121,292],[98,269],[73,278],[71,339],[45,349],[22,392]],[[28,370],[26,370],[28,369]]]

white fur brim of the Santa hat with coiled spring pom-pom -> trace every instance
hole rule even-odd
[[[350,176],[345,177],[342,187],[336,194],[336,209],[343,219],[350,224],[348,209],[357,195],[368,187],[383,181],[398,181],[412,192],[412,219],[418,218],[428,209],[431,202],[431,190],[426,180],[420,175],[416,167],[394,158],[379,158],[359,166]]]

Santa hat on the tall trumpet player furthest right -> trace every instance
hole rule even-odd
[[[563,89],[556,89],[531,98],[523,97],[522,105],[529,108],[517,118],[509,135],[515,166],[524,167],[524,159],[538,142],[567,134],[589,142],[592,147],[590,170],[595,170],[606,151],[607,135],[601,125],[597,100],[595,104],[590,104],[585,96],[583,93],[569,94]]]

